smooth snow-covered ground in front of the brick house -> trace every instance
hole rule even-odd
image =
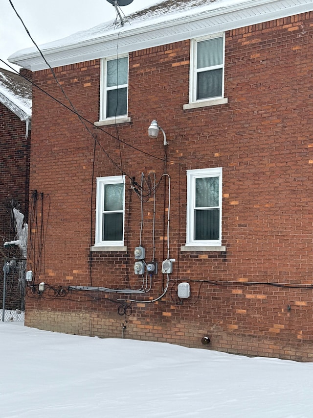
[[[0,418],[312,418],[313,363],[0,323]]]

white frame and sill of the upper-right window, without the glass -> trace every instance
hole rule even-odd
[[[223,63],[212,67],[197,69],[197,45],[199,42],[208,39],[223,38]],[[214,98],[197,99],[197,74],[207,70],[216,70],[222,68],[222,95]],[[184,109],[190,109],[202,106],[212,106],[215,104],[227,103],[227,98],[224,98],[224,69],[225,69],[225,34],[217,33],[211,36],[201,37],[191,40],[190,44],[190,83],[189,83],[189,103],[183,106]]]

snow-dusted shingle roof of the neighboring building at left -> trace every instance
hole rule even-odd
[[[32,85],[19,74],[0,69],[0,102],[21,121],[31,118]]]

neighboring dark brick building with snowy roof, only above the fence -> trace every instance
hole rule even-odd
[[[30,81],[0,68],[0,234],[6,238],[7,202],[14,199],[24,214],[28,210],[31,99]]]

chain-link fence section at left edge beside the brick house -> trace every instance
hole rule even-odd
[[[13,257],[0,263],[0,321],[23,321],[26,261]]]

